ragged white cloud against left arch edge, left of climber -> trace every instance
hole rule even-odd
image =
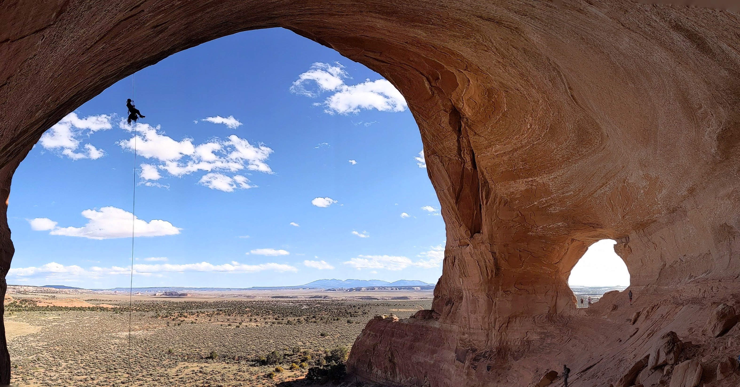
[[[112,128],[110,124],[110,115],[90,115],[86,118],[79,118],[77,113],[71,112],[64,116],[58,123],[54,124],[47,132],[41,135],[38,144],[41,147],[54,152],[59,152],[73,160],[90,158],[92,160],[101,158],[105,153],[92,144],[85,144],[81,152],[80,138],[84,135]]]

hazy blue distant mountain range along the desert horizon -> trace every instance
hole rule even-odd
[[[384,280],[315,280],[313,282],[306,283],[305,285],[295,286],[254,286],[251,288],[195,288],[185,286],[156,286],[150,288],[133,288],[134,292],[138,293],[160,293],[160,292],[225,292],[225,291],[236,291],[236,290],[280,290],[280,289],[354,289],[354,288],[368,288],[368,287],[406,287],[406,286],[434,286],[434,283],[425,283],[419,280],[397,280],[394,282],[388,282]],[[64,285],[46,285],[42,286],[46,288],[54,289],[80,289],[73,288],[71,286]],[[95,292],[110,291],[110,292],[129,292],[129,288],[113,288],[113,289],[89,289]]]

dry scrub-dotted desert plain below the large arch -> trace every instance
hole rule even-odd
[[[408,317],[431,303],[138,300],[129,351],[127,305],[100,301],[115,308],[9,304],[8,330],[19,332],[9,340],[12,382],[19,386],[274,386],[303,377],[306,369],[291,370],[292,363],[314,366],[329,349],[349,348],[374,315],[392,311]],[[283,360],[260,362],[272,351],[283,354]],[[285,371],[274,379],[266,377],[276,366]]]

